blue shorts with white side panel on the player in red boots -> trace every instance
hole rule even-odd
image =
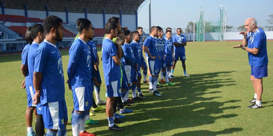
[[[75,111],[87,111],[93,105],[93,86],[83,86],[72,90]]]

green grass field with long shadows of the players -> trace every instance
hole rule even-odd
[[[232,49],[241,42],[190,43],[186,47],[187,74],[183,77],[182,64],[174,70],[175,86],[158,89],[162,97],[148,93],[142,85],[146,99],[129,109],[125,131],[107,129],[105,111],[91,116],[100,123],[86,125],[97,135],[273,135],[273,41],[268,41],[268,77],[264,78],[263,108],[247,109],[254,96],[250,81],[247,52]],[[100,48],[98,50],[101,50]],[[67,80],[68,51],[61,51],[65,80]],[[101,56],[101,52],[98,52]],[[20,70],[21,55],[0,57],[0,135],[25,135],[26,92],[21,89],[23,75]],[[102,63],[100,63],[102,79]],[[105,98],[104,81],[101,98]],[[130,91],[131,92],[131,91]],[[131,94],[130,94],[131,97]],[[66,85],[68,114],[73,108],[72,93]],[[34,119],[35,121],[35,119]],[[33,122],[35,126],[35,122]],[[67,125],[72,135],[71,121]]]

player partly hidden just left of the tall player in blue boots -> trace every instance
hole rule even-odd
[[[138,69],[139,70],[140,70],[140,68],[143,69],[143,84],[147,84],[148,83],[148,81],[147,81],[147,65],[146,65],[146,61],[143,57],[143,49],[144,49],[143,42],[144,42],[145,38],[141,37],[143,34],[143,28],[137,27],[136,31],[138,31],[138,33],[140,34],[140,40],[139,40],[138,44],[141,49],[141,65],[138,66]]]

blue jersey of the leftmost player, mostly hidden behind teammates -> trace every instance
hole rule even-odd
[[[30,44],[27,44],[22,51],[21,58],[22,58],[23,65],[28,65],[29,47],[30,47]],[[31,86],[31,83],[30,83],[30,77],[29,77],[29,71],[28,71],[27,75],[25,76],[25,88],[28,88],[29,86]]]

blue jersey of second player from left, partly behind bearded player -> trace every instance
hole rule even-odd
[[[30,83],[32,86],[32,90],[35,93],[35,89],[33,86],[33,70],[34,70],[34,63],[35,63],[35,55],[36,55],[36,50],[38,49],[39,44],[36,42],[32,42],[30,48],[29,48],[29,53],[28,53],[28,68],[29,68],[29,77],[30,77]]]

